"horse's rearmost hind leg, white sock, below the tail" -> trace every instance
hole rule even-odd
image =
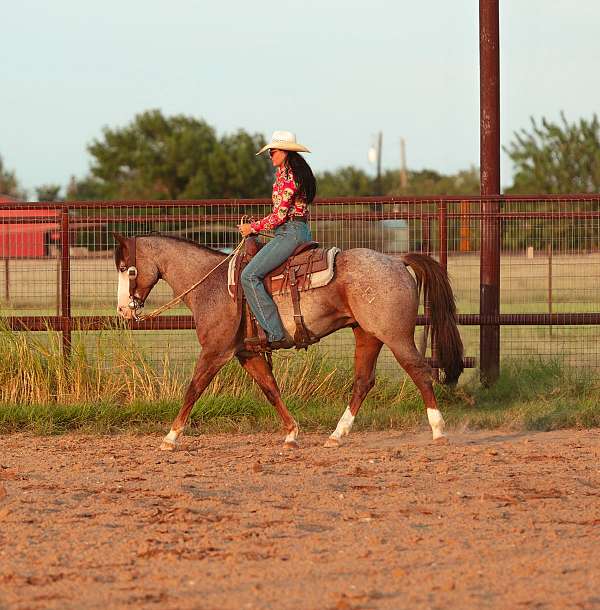
[[[392,350],[398,364],[408,373],[421,392],[427,409],[427,419],[431,426],[433,440],[445,439],[444,418],[438,409],[437,400],[433,393],[431,368],[415,347],[414,338],[406,336],[394,344],[388,343],[387,345]]]

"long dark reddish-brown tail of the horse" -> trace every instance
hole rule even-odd
[[[445,383],[455,384],[463,372],[463,344],[456,325],[456,303],[441,265],[425,254],[408,253],[402,256],[417,278],[431,310],[431,337],[437,348],[437,359],[444,370]]]

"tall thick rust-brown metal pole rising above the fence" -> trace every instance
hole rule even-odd
[[[479,0],[479,83],[481,196],[500,194],[500,26],[499,0]],[[482,201],[479,311],[500,313],[500,221],[498,201]],[[481,381],[500,373],[500,326],[482,324]]]

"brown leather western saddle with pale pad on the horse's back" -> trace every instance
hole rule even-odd
[[[251,352],[269,353],[271,348],[266,333],[252,315],[240,281],[244,267],[263,245],[256,237],[246,238],[245,250],[233,258],[230,263],[228,287],[229,293],[237,303],[242,320],[245,349]],[[332,250],[334,252],[331,252]],[[309,345],[319,341],[318,337],[310,332],[304,322],[304,316],[300,309],[300,293],[331,281],[333,269],[331,277],[324,281],[321,279],[321,281],[315,282],[315,285],[313,285],[313,274],[319,272],[327,274],[327,270],[333,266],[333,260],[337,252],[339,252],[338,248],[320,248],[315,241],[300,244],[284,263],[273,269],[264,279],[265,288],[271,296],[287,293],[291,296],[296,324],[294,333],[294,347],[296,349],[306,349]],[[322,275],[323,273],[321,273]]]

